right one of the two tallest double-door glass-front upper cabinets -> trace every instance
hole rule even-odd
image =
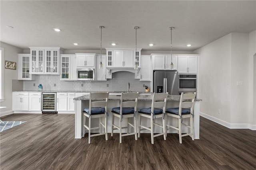
[[[45,74],[59,74],[59,49],[45,49]]]

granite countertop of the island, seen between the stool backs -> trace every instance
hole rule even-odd
[[[139,95],[138,100],[140,101],[152,101],[152,94],[149,95]],[[109,95],[108,100],[120,100],[121,95]],[[80,96],[78,98],[74,98],[74,100],[89,100],[89,95]],[[168,95],[167,101],[180,101],[180,95]],[[202,99],[196,98],[195,101],[202,101]]]

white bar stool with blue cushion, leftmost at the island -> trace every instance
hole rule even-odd
[[[85,134],[85,128],[88,130],[88,143],[90,144],[91,137],[105,135],[106,141],[108,140],[108,92],[107,93],[90,93],[90,100],[89,100],[89,108],[84,108],[84,120],[83,120],[83,137]],[[86,117],[88,120],[88,125],[86,125]],[[91,119],[92,118],[99,118],[99,126],[98,127],[91,127]],[[104,118],[105,122],[102,123],[102,118]],[[101,126],[104,127],[105,132],[101,132]],[[92,129],[100,129],[99,133],[91,135]]]

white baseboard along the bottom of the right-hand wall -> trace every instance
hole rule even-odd
[[[228,123],[226,121],[220,120],[216,117],[212,117],[210,115],[207,115],[206,113],[200,112],[200,116],[209,119],[211,121],[214,121],[215,123],[218,123],[222,126],[225,126],[229,129],[250,129],[250,130],[256,130],[256,125],[248,124],[248,123]]]

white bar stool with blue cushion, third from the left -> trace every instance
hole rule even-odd
[[[164,136],[164,140],[166,140],[166,124],[164,120],[164,111],[166,108],[166,99],[168,93],[153,93],[152,104],[150,108],[143,108],[138,111],[139,113],[139,132],[138,137],[140,137],[140,131],[150,130],[151,133],[151,143],[154,144],[154,137],[158,137],[160,135]],[[141,125],[141,117],[146,117],[150,119],[150,127],[145,127]],[[155,122],[157,118],[162,119],[162,125],[159,125]],[[154,135],[154,125],[161,127],[163,129],[162,133],[158,133]],[[143,129],[141,129],[141,127]]]

